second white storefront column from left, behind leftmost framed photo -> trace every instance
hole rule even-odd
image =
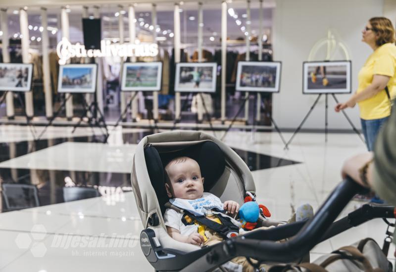
[[[19,23],[21,28],[22,62],[29,63],[29,28],[28,13],[25,9],[19,10]],[[33,91],[25,92],[25,111],[28,118],[33,118]]]

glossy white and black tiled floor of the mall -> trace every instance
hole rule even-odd
[[[0,126],[0,181],[35,184],[40,203],[0,213],[0,271],[152,271],[138,242],[143,227],[130,186],[136,143],[150,132],[111,129],[107,144],[93,142],[93,133],[99,135],[49,128],[34,144],[29,128]],[[258,201],[278,220],[302,203],[316,210],[341,180],[344,159],[365,151],[354,134],[329,134],[325,143],[323,134],[300,133],[290,150],[277,133],[230,132],[224,141],[246,161]],[[65,202],[63,187],[73,183],[101,196]],[[350,202],[342,216],[360,204]],[[382,245],[385,230],[382,220],[370,221],[317,245],[311,257],[367,236]]]

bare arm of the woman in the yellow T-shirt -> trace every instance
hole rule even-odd
[[[391,78],[388,76],[374,75],[373,82],[367,86],[366,89],[360,91],[359,93],[354,93],[347,102],[338,103],[334,108],[335,111],[339,112],[340,110],[346,109],[347,107],[353,108],[357,102],[373,97],[378,92],[385,89],[390,79]]]

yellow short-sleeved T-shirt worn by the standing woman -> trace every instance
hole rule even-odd
[[[388,43],[378,47],[366,60],[358,74],[357,93],[366,89],[373,81],[374,75],[391,77],[388,89],[391,99],[396,96],[396,46]],[[373,120],[385,118],[391,114],[390,101],[385,90],[358,102],[360,118]]]

